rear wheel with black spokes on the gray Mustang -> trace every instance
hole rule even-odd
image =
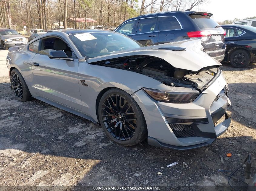
[[[17,69],[13,69],[10,75],[13,93],[19,101],[29,101],[32,99],[28,86]]]

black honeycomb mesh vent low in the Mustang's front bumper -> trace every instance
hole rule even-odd
[[[177,138],[195,137],[195,131],[191,125],[170,124],[172,131]]]

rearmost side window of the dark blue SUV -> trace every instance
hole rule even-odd
[[[158,17],[159,31],[181,29],[181,25],[175,17]]]

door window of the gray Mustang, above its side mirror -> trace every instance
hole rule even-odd
[[[48,56],[49,52],[54,50],[63,50],[68,57],[75,58],[74,53],[68,45],[62,39],[55,37],[43,39],[40,43],[38,53]]]

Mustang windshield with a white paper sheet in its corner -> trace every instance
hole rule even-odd
[[[86,59],[115,53],[121,50],[143,47],[135,40],[119,33],[79,33],[72,34],[69,38]]]

